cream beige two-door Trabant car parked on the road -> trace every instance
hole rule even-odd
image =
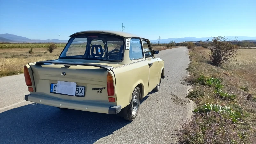
[[[164,61],[154,54],[148,39],[129,33],[74,33],[57,60],[24,66],[25,100],[132,121],[140,100],[159,91],[164,78]]]

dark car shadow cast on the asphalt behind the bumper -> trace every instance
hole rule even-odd
[[[0,143],[91,144],[129,123],[111,114],[29,104],[0,113]]]

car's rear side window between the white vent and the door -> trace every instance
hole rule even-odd
[[[138,39],[138,38],[132,38],[131,39],[129,57],[130,57],[130,60],[143,58],[140,39]]]

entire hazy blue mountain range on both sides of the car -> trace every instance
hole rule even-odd
[[[226,36],[225,38],[234,39],[234,36]],[[237,40],[256,40],[256,37],[248,37],[248,36],[236,36]],[[175,41],[177,42],[184,42],[184,41],[206,41],[207,39],[212,40],[212,37],[184,37],[184,38],[167,38],[167,39],[160,39],[160,43],[169,43],[169,41]],[[59,39],[46,39],[46,40],[40,40],[40,39],[29,39],[22,36],[17,36],[13,34],[0,34],[0,42],[26,42],[26,43],[67,43],[68,40],[59,40]],[[150,40],[151,43],[157,43],[158,40]]]

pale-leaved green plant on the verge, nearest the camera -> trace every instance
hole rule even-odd
[[[239,119],[242,117],[240,112],[233,111],[230,107],[209,103],[204,104],[203,106],[200,106],[194,109],[193,111],[199,113],[207,113],[210,111],[214,111],[219,114],[228,114],[229,117],[232,119],[232,122],[239,122]]]

